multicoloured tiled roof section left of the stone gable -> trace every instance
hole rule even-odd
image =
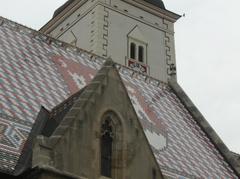
[[[14,171],[40,107],[51,110],[86,86],[104,62],[61,45],[11,21],[0,25],[0,170]]]

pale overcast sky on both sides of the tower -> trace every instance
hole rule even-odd
[[[65,0],[0,0],[0,16],[39,29]],[[225,144],[240,153],[240,1],[165,0],[175,24],[178,81]]]

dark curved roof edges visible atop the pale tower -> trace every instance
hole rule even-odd
[[[64,9],[66,9],[70,4],[72,4],[75,0],[68,0],[65,2],[62,6],[60,6],[58,9],[55,10],[53,17],[56,17],[58,14],[60,14]],[[162,0],[144,0],[154,6],[157,6],[161,9],[165,9],[164,3]]]

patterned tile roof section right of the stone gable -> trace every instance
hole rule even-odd
[[[125,67],[119,72],[164,174],[173,178],[237,178],[166,84],[135,75]]]

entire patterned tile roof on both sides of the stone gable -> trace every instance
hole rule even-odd
[[[0,169],[14,173],[36,116],[85,87],[104,59],[0,18]],[[163,173],[238,178],[171,88],[116,65]]]

